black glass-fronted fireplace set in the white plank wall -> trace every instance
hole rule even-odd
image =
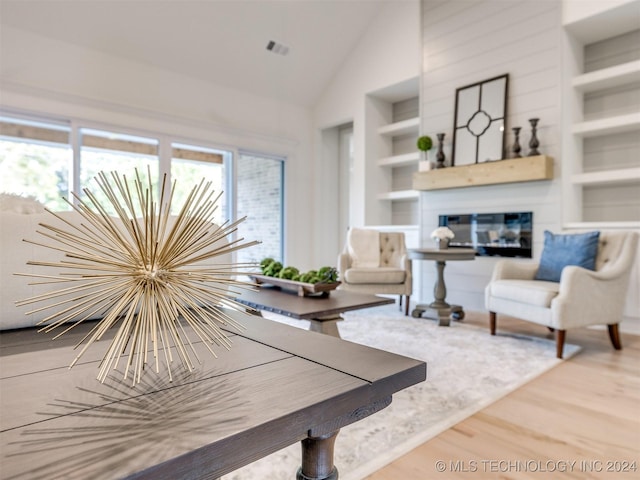
[[[474,248],[479,256],[531,258],[533,212],[440,215],[455,234],[450,248]]]

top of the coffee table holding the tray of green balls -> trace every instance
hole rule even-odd
[[[260,287],[259,290],[243,290],[242,295],[236,300],[256,310],[266,310],[301,320],[326,317],[394,302],[391,298],[344,290],[332,290],[329,296],[301,297],[295,292],[265,286]]]

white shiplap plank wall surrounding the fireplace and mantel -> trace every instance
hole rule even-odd
[[[433,243],[430,233],[440,214],[532,211],[533,254],[539,257],[544,230],[557,232],[562,225],[561,2],[423,0],[422,25],[422,131],[434,138],[446,133],[447,163],[456,88],[508,73],[507,148],[513,142],[511,128],[520,126],[526,155],[528,119],[539,118],[539,150],[555,159],[555,172],[551,181],[421,192],[421,244]],[[435,268],[432,262],[420,263],[420,296],[427,300],[433,296]],[[478,257],[474,262],[447,264],[447,299],[470,310],[484,310],[484,287],[495,263],[495,258]]]

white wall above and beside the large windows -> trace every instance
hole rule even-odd
[[[287,156],[286,261],[311,268],[310,111],[4,27],[0,107]]]

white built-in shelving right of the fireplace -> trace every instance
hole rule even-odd
[[[623,0],[564,22],[567,228],[640,226],[639,11]]]

